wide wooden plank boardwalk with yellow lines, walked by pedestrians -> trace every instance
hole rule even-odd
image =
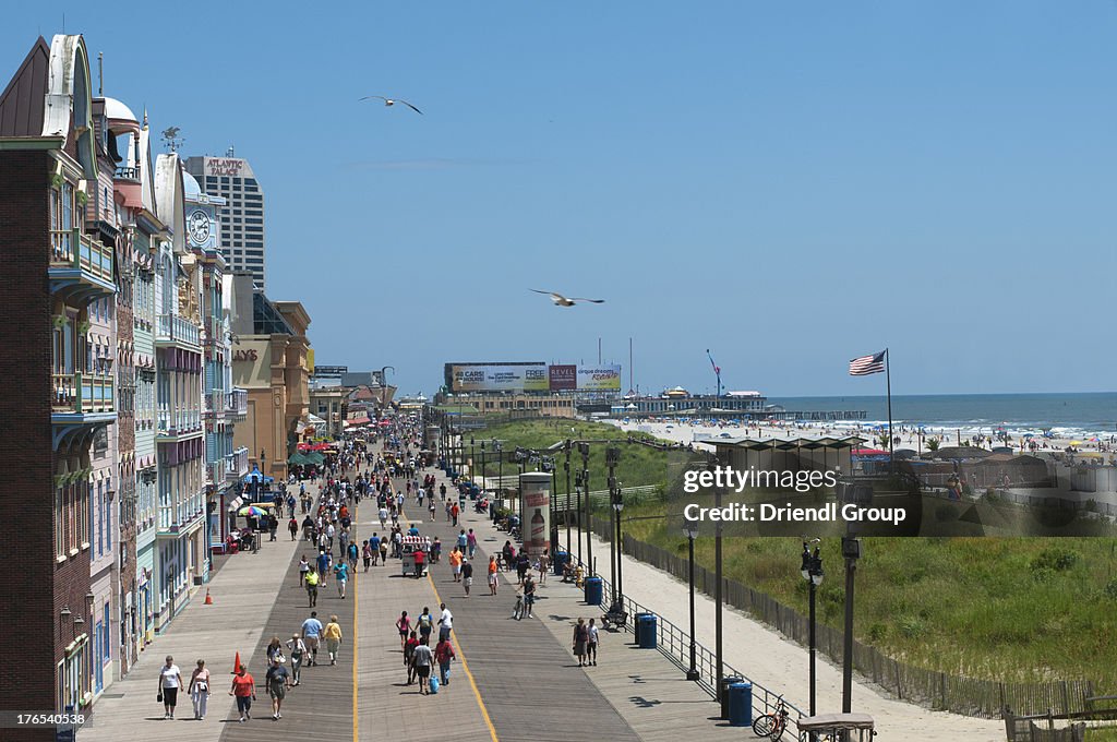
[[[471,507],[468,502],[467,507]],[[374,513],[369,501],[356,513],[360,539],[380,531]],[[418,515],[418,511],[409,515]],[[293,544],[280,539],[267,544],[269,549],[260,554],[233,558],[212,584],[217,605],[204,609],[191,606],[153,647],[159,659],[166,651],[174,654],[184,673],[194,656],[209,660],[213,695],[207,720],[189,720],[185,701],[179,706],[182,721],[162,722],[153,695],[154,673],[161,662],[145,657],[147,669],[114,686],[114,691],[126,691],[122,694],[125,697],[99,702],[101,723],[83,730],[83,739],[170,734],[183,742],[262,742],[276,736],[327,742],[675,742],[695,731],[715,740],[731,734],[742,739],[743,730],[710,721],[716,707],[708,696],[684,681],[658,651],[633,648],[631,635],[602,632],[602,664],[577,667],[570,653],[573,622],[579,616],[589,618],[599,611],[586,607],[572,586],[550,578],[540,590],[536,618],[514,620],[514,579],[503,574],[499,594],[488,594],[488,553],[498,550],[506,536],[491,527],[487,516],[471,511],[462,514],[461,527],[474,527],[480,545],[469,598],[462,586],[454,582],[445,559],[456,543],[458,529],[446,521],[441,507],[436,523],[417,524],[443,543],[443,560],[431,568],[427,579],[402,577],[400,561],[390,559],[386,567],[367,573],[359,567],[345,600],[337,597],[333,580],[319,589],[318,618],[325,624],[336,613],[343,628],[340,660],[330,666],[323,647],[319,665],[305,667],[302,684],[288,691],[281,720],[271,719],[264,685],[265,647],[273,636],[289,639],[308,617],[297,564],[299,555],[305,552],[312,556],[314,550],[305,542]],[[454,612],[459,662],[451,669],[450,685],[437,695],[424,696],[418,686],[405,684],[394,621],[401,610],[416,617],[423,607],[437,617],[442,601]],[[238,723],[232,698],[227,695],[232,648],[240,650],[257,682],[258,698],[247,723]]]

